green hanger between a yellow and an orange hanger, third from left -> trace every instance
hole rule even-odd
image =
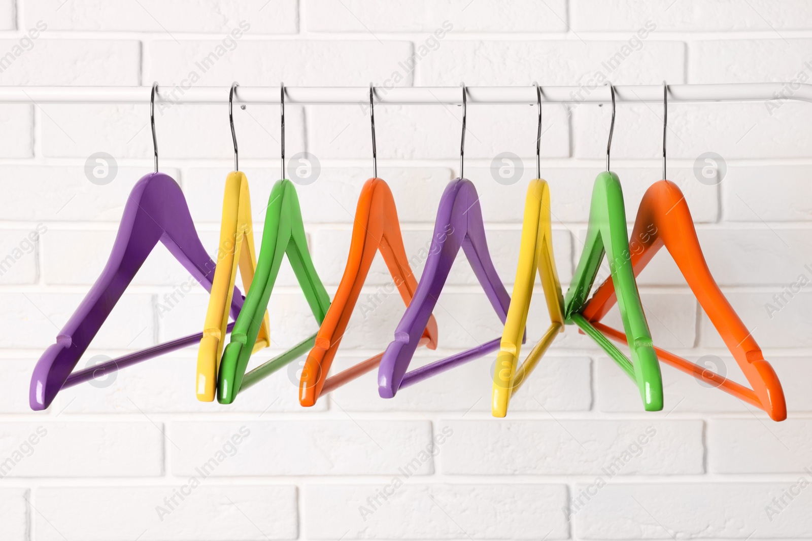
[[[237,393],[265,379],[274,371],[290,363],[293,359],[305,354],[313,347],[316,334],[300,341],[296,346],[262,363],[252,371],[245,373],[248,359],[257,343],[263,314],[274,289],[274,282],[279,274],[279,266],[287,253],[299,286],[313,311],[317,324],[321,325],[330,307],[330,295],[322,285],[321,279],[313,267],[313,261],[307,248],[307,237],[304,234],[299,198],[293,182],[284,178],[285,174],[285,86],[280,86],[282,111],[282,180],[274,184],[270,191],[265,217],[265,229],[262,231],[262,244],[257,260],[257,273],[251,289],[245,297],[244,309],[231,331],[231,342],[222,352],[222,362],[218,371],[217,399],[222,404],[231,404]]]

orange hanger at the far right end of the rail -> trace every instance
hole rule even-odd
[[[719,387],[724,392],[766,411],[774,421],[783,421],[787,418],[787,405],[778,376],[775,375],[770,363],[764,359],[752,333],[742,323],[711,275],[711,269],[708,268],[705,256],[702,255],[702,247],[699,245],[685,195],[674,182],[665,180],[667,104],[668,87],[663,84],[663,180],[654,182],[646,190],[637,210],[632,230],[633,243],[629,245],[634,275],[637,276],[643,268],[646,268],[660,248],[666,247],[700,306],[741,367],[752,389],[666,350],[659,348],[654,350],[664,363],[699,380],[706,380],[714,387]],[[599,323],[615,304],[615,300],[614,283],[611,278],[607,278],[585,305],[583,316],[601,333],[622,342],[624,341],[622,333]]]

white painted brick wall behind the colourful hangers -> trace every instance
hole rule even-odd
[[[0,0],[0,58],[23,49],[0,66],[0,85],[157,80],[171,89],[191,71],[224,96],[234,80],[545,85],[588,84],[599,73],[615,84],[782,82],[812,79],[810,45],[803,0]],[[227,53],[201,71],[196,62],[218,46]],[[619,53],[624,60],[608,70],[603,62]],[[420,57],[413,69],[412,54]],[[617,109],[612,164],[629,222],[660,176],[661,111]],[[490,417],[493,356],[388,401],[372,372],[303,410],[300,362],[231,406],[197,401],[194,348],[65,389],[49,410],[32,412],[32,366],[102,269],[127,193],[152,168],[148,112],[146,103],[0,105],[0,261],[13,260],[0,273],[0,541],[812,539],[812,290],[784,293],[801,275],[812,279],[809,104],[669,109],[669,177],[685,192],[715,277],[783,381],[784,423],[667,366],[665,410],[646,414],[628,378],[574,328],[556,339],[508,419]],[[157,117],[161,168],[184,187],[209,251],[231,170],[226,112],[184,105]],[[317,182],[297,190],[314,263],[332,292],[372,174],[369,117],[355,105],[286,113],[287,156],[307,150],[322,162]],[[376,109],[379,174],[395,195],[408,255],[425,245],[457,174],[460,113]],[[278,114],[274,106],[235,110],[257,246],[279,178]],[[544,109],[542,176],[565,287],[603,169],[609,114],[594,105]],[[469,108],[466,176],[508,290],[535,122],[527,106]],[[99,151],[119,165],[105,186],[84,174]],[[512,186],[490,175],[505,151],[525,168]],[[725,160],[718,185],[694,174],[704,152]],[[156,252],[80,367],[201,330],[200,289],[158,311],[188,273],[163,247]],[[389,281],[376,260],[361,301]],[[659,345],[745,382],[665,251],[639,283]],[[402,313],[399,295],[371,317],[356,310],[335,369],[387,346]],[[414,366],[499,337],[462,257],[436,316],[438,351],[418,351]],[[253,364],[316,330],[287,267],[270,322],[272,347]],[[615,311],[607,323],[620,325]],[[528,342],[545,328],[537,296]]]

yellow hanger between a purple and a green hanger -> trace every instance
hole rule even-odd
[[[496,355],[494,387],[490,403],[490,411],[494,417],[504,417],[508,413],[510,398],[536,367],[539,359],[555,340],[555,335],[564,332],[564,297],[561,295],[561,283],[555,269],[555,256],[553,255],[550,188],[547,182],[541,179],[542,89],[537,83],[533,83],[533,85],[536,87],[538,99],[536,178],[531,180],[527,187],[516,281],[513,282],[508,317],[505,320],[499,353]],[[542,289],[551,324],[533,350],[530,350],[525,362],[516,368],[537,269],[538,276],[542,280]]]

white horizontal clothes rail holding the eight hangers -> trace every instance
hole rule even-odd
[[[36,104],[148,104],[152,87],[0,87],[0,103]],[[158,86],[155,105],[226,104],[228,87]],[[466,86],[468,104],[537,105],[533,86]],[[731,83],[669,84],[669,103],[708,103],[715,101],[793,100],[812,102],[812,84]],[[238,87],[240,104],[279,104],[279,86]],[[375,87],[375,100],[391,105],[461,105],[460,87]],[[618,103],[661,103],[659,84],[615,85]],[[369,86],[362,87],[285,87],[287,105],[357,104],[369,106]],[[542,103],[611,103],[607,86],[542,86]]]

